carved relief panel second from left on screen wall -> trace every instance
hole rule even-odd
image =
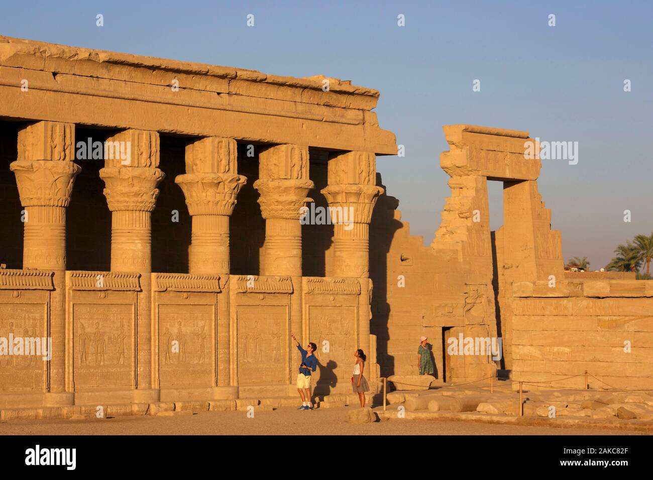
[[[133,385],[133,306],[74,304],[72,325],[76,389]]]

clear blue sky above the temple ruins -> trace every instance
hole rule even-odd
[[[539,178],[565,260],[600,268],[617,244],[653,231],[650,1],[13,1],[2,14],[12,37],[378,89],[379,123],[406,157],[379,157],[377,169],[426,244],[449,195],[439,153],[451,123],[579,142],[578,165],[543,161]],[[493,229],[500,196],[493,182]]]

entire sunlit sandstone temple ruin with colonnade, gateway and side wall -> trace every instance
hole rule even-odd
[[[653,387],[653,284],[565,280],[528,133],[444,127],[426,247],[376,172],[397,153],[378,97],[0,37],[0,408],[296,394],[291,332],[318,345],[320,395],[351,391],[357,348],[373,389],[416,374],[422,334],[441,381]],[[502,359],[448,355],[460,335]],[[50,358],[3,355],[18,337]]]

